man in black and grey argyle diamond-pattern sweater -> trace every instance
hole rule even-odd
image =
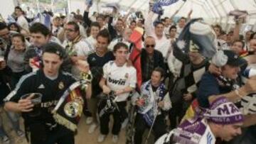
[[[171,129],[176,128],[177,118],[178,121],[181,121],[191,101],[196,98],[201,77],[204,72],[208,71],[210,65],[208,59],[201,55],[199,46],[193,43],[192,40],[189,43],[188,54],[183,53],[181,49],[176,47],[173,50],[174,57],[181,62],[181,69],[178,72],[178,77],[175,76],[175,83],[170,92],[173,104],[169,113]]]

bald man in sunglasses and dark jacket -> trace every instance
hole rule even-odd
[[[150,79],[151,73],[155,67],[161,67],[165,70],[164,57],[158,50],[155,50],[156,41],[153,37],[148,36],[142,49],[142,82]]]

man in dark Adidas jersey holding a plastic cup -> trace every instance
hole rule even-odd
[[[56,123],[51,111],[75,79],[60,69],[65,55],[60,45],[47,43],[43,46],[42,55],[43,68],[21,77],[14,91],[6,96],[5,109],[22,113],[26,131],[30,132],[31,144],[73,144],[74,133]],[[37,115],[31,115],[35,109],[31,100],[33,96],[21,99],[21,96],[31,93],[42,94]]]

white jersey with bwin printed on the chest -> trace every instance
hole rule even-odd
[[[117,67],[114,61],[107,62],[103,66],[103,77],[107,81],[107,87],[112,91],[124,89],[125,87],[136,87],[137,74],[134,67],[127,67],[125,63],[122,67]],[[117,102],[126,101],[129,93],[120,94]]]

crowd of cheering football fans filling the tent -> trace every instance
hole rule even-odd
[[[0,22],[2,143],[10,143],[3,113],[17,136],[31,144],[75,143],[75,131],[60,124],[52,111],[74,82],[85,79],[86,88],[78,93],[84,102],[76,104],[82,104],[88,133],[99,128],[98,143],[110,133],[111,115],[113,143],[147,143],[149,135],[154,135],[150,143],[159,144],[256,143],[256,33],[240,34],[244,18],[226,31],[191,20],[193,11],[177,22],[178,11],[156,21],[151,9],[139,18],[129,17],[132,12],[120,16],[117,9],[89,13],[87,5],[83,16],[51,16],[48,28],[16,6],[16,22]],[[144,31],[142,48],[130,40],[138,28]],[[212,39],[201,32],[208,29]],[[197,35],[205,37],[196,40]],[[213,55],[205,55],[208,45]],[[134,50],[139,55],[131,60]],[[33,96],[38,93],[41,104],[35,114]],[[73,106],[64,106],[64,114],[80,111]],[[127,141],[121,142],[124,127]]]

